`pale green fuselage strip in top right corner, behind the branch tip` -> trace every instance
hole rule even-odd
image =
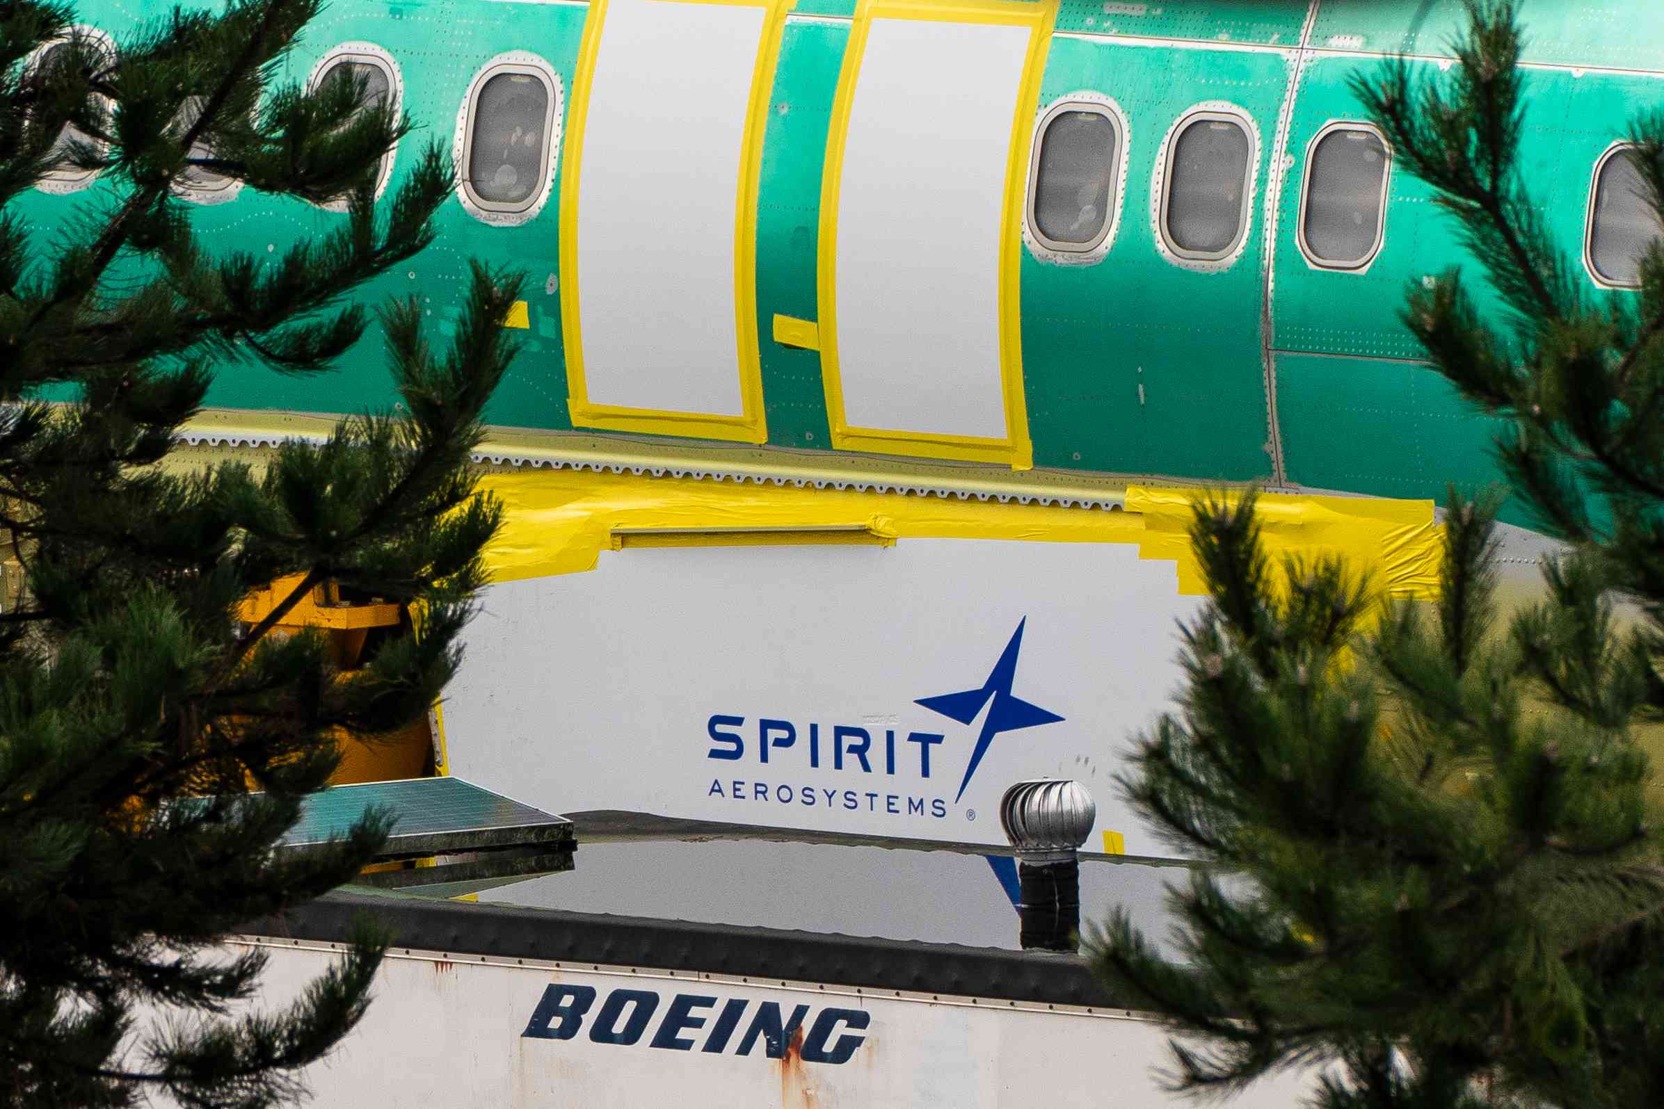
[[[1654,0],[1523,0],[1526,60],[1657,70],[1664,60],[1657,15]],[[1463,27],[1463,0],[1323,0],[1311,45],[1443,57]]]

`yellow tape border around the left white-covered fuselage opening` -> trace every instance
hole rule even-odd
[[[577,311],[577,183],[582,173],[584,128],[589,120],[591,85],[601,55],[601,30],[607,0],[591,0],[584,37],[572,75],[567,108],[566,166],[561,173],[561,331],[566,339],[567,412],[574,427],[691,436],[732,442],[767,442],[762,406],[762,354],[757,339],[757,195],[762,188],[762,138],[769,125],[769,96],[780,57],[785,13],[795,0],[661,0],[666,3],[722,3],[765,10],[757,60],[750,76],[745,131],[740,140],[739,193],[734,205],[734,326],[739,372],[740,416],[677,412],[671,409],[591,404],[584,377],[582,321]]]

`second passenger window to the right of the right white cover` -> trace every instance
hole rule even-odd
[[[1248,228],[1253,140],[1240,120],[1198,113],[1173,136],[1161,196],[1161,234],[1180,258],[1228,258]]]

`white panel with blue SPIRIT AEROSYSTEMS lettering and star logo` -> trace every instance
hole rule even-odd
[[[449,765],[554,811],[973,845],[1007,786],[1063,776],[1098,805],[1085,850],[1161,855],[1113,775],[1196,605],[1132,544],[606,552],[486,590]]]

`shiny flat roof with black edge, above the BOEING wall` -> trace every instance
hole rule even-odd
[[[439,783],[451,781],[444,786]],[[341,786],[310,813],[318,830],[343,826],[389,796],[426,805],[454,790],[474,806],[413,813],[423,828],[488,826],[468,813],[499,813],[513,825],[518,806],[459,780]],[[536,810],[531,810],[536,813]],[[546,815],[544,815],[546,816]],[[1002,885],[1008,858],[982,851],[867,836],[812,836],[737,828],[644,813],[587,813],[559,821],[576,831],[584,861],[569,873],[531,880],[478,880],[463,870],[399,871],[434,883],[381,893],[363,885],[283,916],[251,923],[246,934],[344,943],[353,918],[369,911],[394,933],[394,946],[469,956],[629,966],[682,974],[824,983],[915,994],[952,994],[1017,1003],[1130,1008],[1070,954],[1025,953],[1018,918]],[[331,821],[334,821],[331,825]],[[301,833],[318,835],[318,831]],[[542,848],[534,848],[542,850]],[[466,858],[496,858],[499,853]],[[569,856],[567,856],[569,860]],[[468,863],[464,863],[468,866]],[[569,866],[569,861],[567,861]],[[1158,944],[1171,923],[1163,886],[1183,870],[1137,861],[1082,860],[1082,926],[1125,908]],[[379,883],[378,883],[379,885]],[[496,885],[498,888],[491,888]],[[478,903],[434,900],[481,890]]]

